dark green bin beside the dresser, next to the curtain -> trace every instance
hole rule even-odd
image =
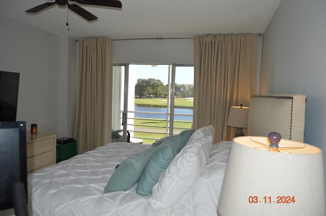
[[[73,138],[57,139],[57,163],[77,155],[77,142]]]

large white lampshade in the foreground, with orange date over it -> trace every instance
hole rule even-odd
[[[325,216],[321,149],[282,139],[284,151],[275,152],[259,143],[267,138],[233,139],[218,215]]]

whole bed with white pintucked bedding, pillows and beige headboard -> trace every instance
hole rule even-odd
[[[304,95],[253,96],[248,135],[276,131],[286,139],[303,141],[305,103]],[[213,130],[212,126],[188,130],[154,145],[108,143],[31,174],[30,215],[216,215],[231,142],[212,144]],[[178,143],[183,144],[171,147]],[[170,161],[154,157],[161,148],[166,152],[158,156],[165,160],[168,152],[173,155]],[[156,182],[145,175],[147,169],[158,170]]]

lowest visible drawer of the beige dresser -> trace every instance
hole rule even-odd
[[[53,150],[27,159],[27,172],[43,168],[53,163]]]

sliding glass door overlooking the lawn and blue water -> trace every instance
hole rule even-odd
[[[193,66],[114,66],[113,128],[151,144],[193,122]]]

